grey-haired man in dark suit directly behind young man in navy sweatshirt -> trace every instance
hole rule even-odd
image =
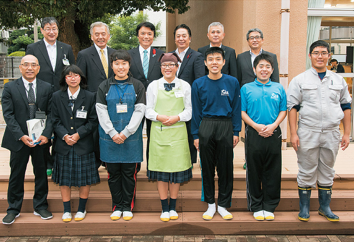
[[[235,49],[222,44],[222,41],[225,37],[224,25],[219,22],[211,23],[208,27],[207,36],[210,40],[210,44],[199,48],[198,52],[202,53],[202,55],[204,57],[205,50],[207,48],[210,48],[213,46],[222,48],[224,50],[224,54],[225,54],[225,65],[222,69],[222,73],[237,78],[237,64],[236,64]],[[209,70],[205,66],[205,75],[208,75],[208,74],[209,74]]]

